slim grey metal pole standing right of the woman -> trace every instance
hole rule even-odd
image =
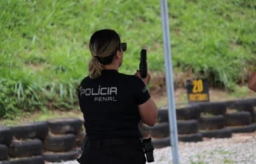
[[[179,164],[179,151],[177,140],[177,119],[174,97],[174,85],[173,85],[173,64],[171,57],[170,46],[170,32],[169,32],[169,17],[168,17],[168,3],[166,0],[161,1],[161,18],[163,28],[163,48],[165,54],[165,66],[166,66],[166,89],[168,96],[168,117],[170,124],[170,145],[173,153],[173,163]]]

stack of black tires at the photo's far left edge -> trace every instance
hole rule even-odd
[[[0,161],[4,164],[44,164],[43,140],[48,135],[46,122],[0,128]]]

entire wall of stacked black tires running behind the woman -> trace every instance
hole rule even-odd
[[[256,131],[256,99],[198,103],[178,108],[179,142],[201,142],[204,138],[232,137],[234,133]],[[230,109],[237,110],[231,113]],[[204,115],[207,113],[207,117]],[[210,115],[210,116],[209,116]],[[156,149],[170,146],[168,109],[161,108],[155,126],[139,124],[143,137],[152,137]],[[44,164],[72,161],[81,155],[86,135],[83,120],[58,119],[0,126],[1,164]]]

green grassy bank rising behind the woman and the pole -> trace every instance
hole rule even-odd
[[[232,89],[255,66],[256,1],[168,1],[173,66]],[[151,0],[0,1],[0,117],[77,107],[88,73],[88,41],[102,28],[128,42],[122,73],[164,71],[161,10]]]

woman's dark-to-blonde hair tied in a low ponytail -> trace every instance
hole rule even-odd
[[[91,79],[100,77],[104,65],[112,63],[114,54],[120,48],[121,40],[116,31],[102,29],[93,33],[90,38],[90,53],[93,55],[93,59],[88,65],[89,77]]]

